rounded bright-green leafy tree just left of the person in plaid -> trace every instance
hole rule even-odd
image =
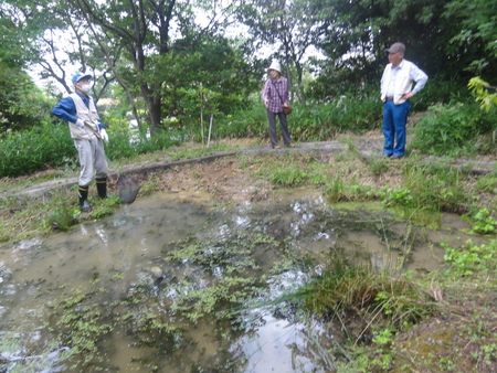
[[[245,51],[223,36],[178,40],[168,55],[156,57],[151,78],[163,82],[166,110],[186,125],[202,108],[229,114],[247,102],[260,85],[258,70],[247,60]]]

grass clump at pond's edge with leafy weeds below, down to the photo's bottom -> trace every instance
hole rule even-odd
[[[430,320],[440,305],[410,276],[352,265],[336,252],[329,263],[296,294],[310,315],[341,326],[328,352],[336,355],[328,360],[337,362],[339,372],[391,370],[398,359],[395,339]]]

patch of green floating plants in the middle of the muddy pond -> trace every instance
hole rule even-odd
[[[278,246],[271,236],[243,228],[228,230],[230,234],[218,239],[190,236],[169,243],[163,252],[168,263],[188,264],[194,276],[170,285],[175,290],[171,306],[176,312],[199,321],[212,316],[229,316],[240,303],[257,294],[261,278],[254,277],[260,264],[254,257],[256,248]]]

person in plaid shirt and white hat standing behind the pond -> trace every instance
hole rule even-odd
[[[288,122],[283,107],[288,107],[288,81],[282,76],[282,67],[277,61],[273,61],[267,68],[269,78],[266,81],[263,90],[264,105],[267,108],[267,119],[269,120],[269,139],[273,149],[279,149],[276,136],[276,115],[282,126],[283,141],[285,146],[293,147],[288,131]]]

